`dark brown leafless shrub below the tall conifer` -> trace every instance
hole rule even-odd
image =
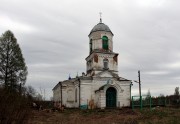
[[[0,89],[0,123],[22,124],[29,116],[28,99],[18,92]]]

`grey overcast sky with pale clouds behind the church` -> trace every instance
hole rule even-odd
[[[119,76],[142,93],[170,95],[180,86],[179,0],[0,0],[0,34],[11,30],[37,92],[86,72],[90,30],[102,21],[114,34]],[[134,83],[133,95],[138,94]]]

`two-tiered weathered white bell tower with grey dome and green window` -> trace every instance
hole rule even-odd
[[[89,33],[89,55],[86,58],[88,76],[102,71],[118,74],[118,53],[113,52],[113,33],[110,28],[100,22]]]

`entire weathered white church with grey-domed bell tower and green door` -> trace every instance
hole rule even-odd
[[[113,36],[100,18],[88,35],[86,73],[58,82],[52,89],[55,104],[82,109],[130,106],[131,80],[118,75],[118,53],[113,51]]]

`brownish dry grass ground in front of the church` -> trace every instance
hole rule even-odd
[[[33,110],[28,124],[180,124],[180,108]]]

